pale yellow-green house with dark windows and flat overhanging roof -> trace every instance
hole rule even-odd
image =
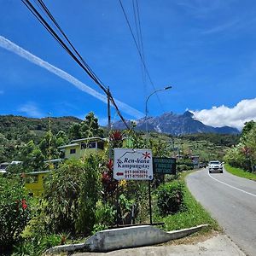
[[[79,159],[92,153],[102,153],[107,139],[102,137],[88,137],[71,141],[70,144],[59,147],[64,151],[66,159]]]

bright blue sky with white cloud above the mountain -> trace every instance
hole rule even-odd
[[[0,114],[29,117],[93,111],[106,124],[106,104],[38,67],[9,40],[103,93],[18,0],[0,0]],[[55,19],[127,119],[191,110],[207,125],[241,128],[256,119],[256,3],[253,0],[139,0],[143,46],[154,82],[143,83],[142,63],[118,0],[44,0]],[[132,1],[123,0],[135,32]],[[1,41],[1,40],[0,40]],[[84,85],[81,85],[82,87]],[[129,106],[124,105],[127,104]],[[112,108],[113,120],[118,116]]]

